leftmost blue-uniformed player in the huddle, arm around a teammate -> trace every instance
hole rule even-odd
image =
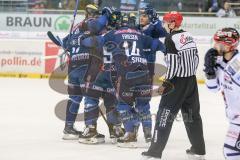
[[[74,94],[74,92],[79,93],[80,83],[84,81],[94,81],[94,78],[96,78],[97,75],[96,72],[98,72],[98,65],[102,63],[99,59],[95,58],[96,56],[92,56],[93,58],[90,56],[93,49],[80,46],[81,38],[99,34],[109,23],[109,19],[113,12],[111,8],[104,8],[102,10],[103,15],[99,17],[98,7],[91,4],[86,6],[85,11],[86,15],[83,22],[74,28],[71,37],[68,35],[63,39],[64,48],[70,52],[68,83],[69,90],[71,90],[69,91],[71,93],[69,93],[69,101],[66,109],[66,122],[63,131],[63,139],[65,140],[78,139],[80,134],[80,132],[74,129],[74,122],[78,113],[79,104],[82,100],[82,95]],[[101,49],[99,50],[101,51]],[[90,64],[95,62],[98,64]],[[92,70],[94,72],[91,72]],[[92,73],[93,75],[91,75]]]

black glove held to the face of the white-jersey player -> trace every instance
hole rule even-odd
[[[207,51],[204,57],[204,72],[207,79],[216,78],[215,67],[217,61],[218,51],[214,48],[211,48]]]

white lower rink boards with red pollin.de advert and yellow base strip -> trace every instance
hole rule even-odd
[[[211,39],[195,38],[200,56],[197,77],[203,82],[203,58],[211,46]],[[0,77],[49,78],[60,64],[57,55],[63,51],[47,39],[0,39],[0,44]],[[53,58],[47,59],[49,56]],[[163,57],[163,53],[158,52],[156,62],[164,64]]]

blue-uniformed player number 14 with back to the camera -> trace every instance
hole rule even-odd
[[[115,46],[109,48],[112,48],[118,77],[117,109],[126,130],[118,143],[123,147],[132,147],[132,142],[137,141],[139,119],[149,115],[150,107],[148,102],[151,98],[151,82],[144,50],[155,52],[159,49],[159,41],[154,41],[136,29],[136,18],[132,14],[123,14],[120,27],[108,32],[104,40],[108,45]],[[137,99],[146,105],[135,108]]]

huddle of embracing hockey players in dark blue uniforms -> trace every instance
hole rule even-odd
[[[155,10],[148,7],[143,12],[146,16],[151,14],[152,23],[156,23],[145,32],[164,37],[166,32],[160,20],[154,17],[157,16]],[[86,19],[75,27],[70,40],[69,36],[63,39],[64,48],[70,52],[68,79],[71,86],[64,139],[104,142],[104,135],[97,132],[99,99],[102,98],[111,138],[118,138],[119,143],[135,142],[142,123],[146,142],[151,141],[149,101],[154,66],[148,62],[154,63],[156,51],[163,51],[164,47],[158,39],[146,36],[138,28],[133,14],[122,14],[106,7],[100,16],[97,6],[87,5]],[[79,91],[81,94],[74,94]],[[73,124],[83,96],[86,128],[79,133]]]

